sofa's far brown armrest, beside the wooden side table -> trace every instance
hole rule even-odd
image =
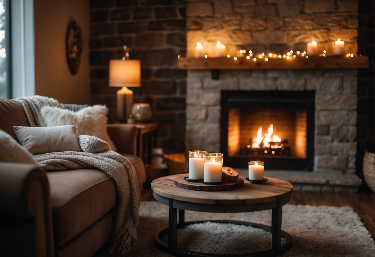
[[[134,125],[107,124],[107,132],[118,152],[136,155],[137,128]]]

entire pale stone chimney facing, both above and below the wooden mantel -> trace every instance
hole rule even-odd
[[[285,53],[305,50],[316,40],[327,47],[345,40],[357,52],[357,1],[187,2],[187,51],[196,42],[227,45],[228,52]],[[207,50],[209,52],[209,50]],[[191,56],[191,55],[190,55]],[[351,176],[356,172],[357,70],[189,70],[186,96],[186,149],[220,150],[221,90],[314,90],[314,172]],[[358,181],[356,181],[358,184]]]

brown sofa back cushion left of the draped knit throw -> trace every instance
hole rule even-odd
[[[13,126],[29,126],[20,102],[14,99],[0,99],[0,129],[17,140]]]

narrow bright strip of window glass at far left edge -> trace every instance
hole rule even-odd
[[[6,60],[6,3],[0,0],[0,98],[10,97],[7,87],[7,60]]]

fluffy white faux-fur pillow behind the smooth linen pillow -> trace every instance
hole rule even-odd
[[[116,151],[116,146],[107,132],[108,108],[104,105],[94,105],[73,112],[67,109],[44,106],[40,114],[48,127],[73,125],[79,135],[96,136],[109,143],[111,149]]]

